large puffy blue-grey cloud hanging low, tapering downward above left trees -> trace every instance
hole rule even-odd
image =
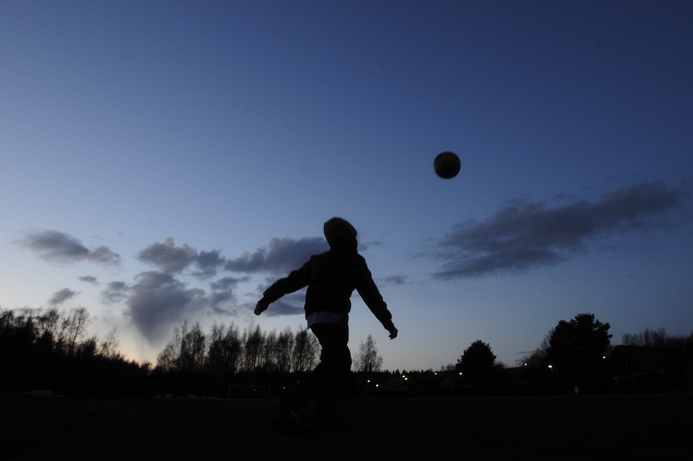
[[[166,272],[142,272],[134,285],[123,287],[121,292],[125,290],[129,293],[126,314],[149,341],[159,339],[171,324],[209,303],[204,290],[188,289]]]

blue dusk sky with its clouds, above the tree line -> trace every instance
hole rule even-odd
[[[6,1],[0,88],[0,307],[86,307],[132,359],[304,326],[301,292],[252,307],[333,216],[390,370],[583,312],[693,331],[690,2]]]

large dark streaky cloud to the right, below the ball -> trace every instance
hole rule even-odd
[[[438,242],[445,260],[437,278],[509,273],[568,260],[586,242],[611,233],[667,223],[661,215],[681,206],[685,192],[662,183],[617,188],[595,203],[573,201],[547,208],[518,199],[484,222],[457,224]]]

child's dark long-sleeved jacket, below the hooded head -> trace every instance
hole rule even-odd
[[[263,299],[274,302],[306,285],[306,318],[317,311],[349,314],[351,293],[356,289],[383,327],[387,330],[394,327],[392,314],[373,281],[366,260],[351,248],[333,246],[325,253],[311,256],[301,269],[267,288]]]

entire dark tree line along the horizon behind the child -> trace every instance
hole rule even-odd
[[[0,309],[0,392],[53,390],[63,395],[209,395],[227,397],[233,388],[262,386],[281,397],[317,363],[319,344],[307,329],[263,332],[258,325],[240,329],[214,324],[203,332],[199,323],[183,322],[157,356],[155,366],[129,361],[118,350],[116,330],[105,338],[89,335],[87,309],[17,313]],[[473,341],[457,363],[441,374],[458,376],[459,386],[497,386],[515,370],[519,381],[551,386],[595,386],[606,377],[605,360],[614,346],[610,325],[594,314],[578,314],[550,329],[539,347],[515,368],[496,361],[489,343]],[[686,386],[685,366],[693,359],[693,334],[671,336],[665,329],[624,334],[622,346],[655,351],[667,388]],[[354,351],[359,379],[380,372],[383,358],[369,335]],[[388,379],[426,372],[381,372]],[[363,377],[366,378],[363,378]],[[519,377],[518,377],[519,376]],[[363,379],[362,379],[363,378]],[[369,381],[368,381],[369,382]],[[353,384],[353,383],[352,383]]]

